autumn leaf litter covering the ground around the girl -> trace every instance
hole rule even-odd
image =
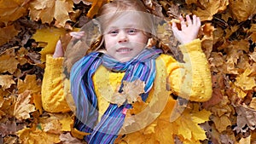
[[[175,129],[155,140],[165,136],[176,143],[256,143],[256,1],[143,2],[166,20],[179,14],[201,17],[199,37],[212,72],[212,99],[190,102],[183,121],[177,119]],[[71,129],[72,113],[42,108],[45,55],[53,54],[56,41],[93,18],[103,3],[108,0],[0,0],[0,143],[82,143],[84,134]],[[164,44],[177,44],[167,43],[166,26],[159,32]],[[148,133],[163,130],[164,123]],[[146,133],[130,137],[137,142],[147,138]]]

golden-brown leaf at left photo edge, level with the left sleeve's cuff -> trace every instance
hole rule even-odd
[[[19,64],[15,59],[15,49],[9,49],[0,55],[0,72],[9,72],[13,74]]]

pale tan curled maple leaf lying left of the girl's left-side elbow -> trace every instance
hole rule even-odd
[[[30,91],[24,91],[15,101],[14,116],[18,119],[30,118],[29,113],[35,111],[34,105],[30,104]]]

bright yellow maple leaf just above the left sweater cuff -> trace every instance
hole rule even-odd
[[[38,30],[32,38],[37,42],[44,42],[47,45],[40,51],[41,60],[46,60],[46,55],[52,55],[55,52],[55,44],[66,31],[62,28],[44,28]]]

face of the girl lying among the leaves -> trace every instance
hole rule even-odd
[[[140,20],[139,14],[123,14],[106,26],[103,38],[108,55],[126,62],[145,48],[148,37]]]

